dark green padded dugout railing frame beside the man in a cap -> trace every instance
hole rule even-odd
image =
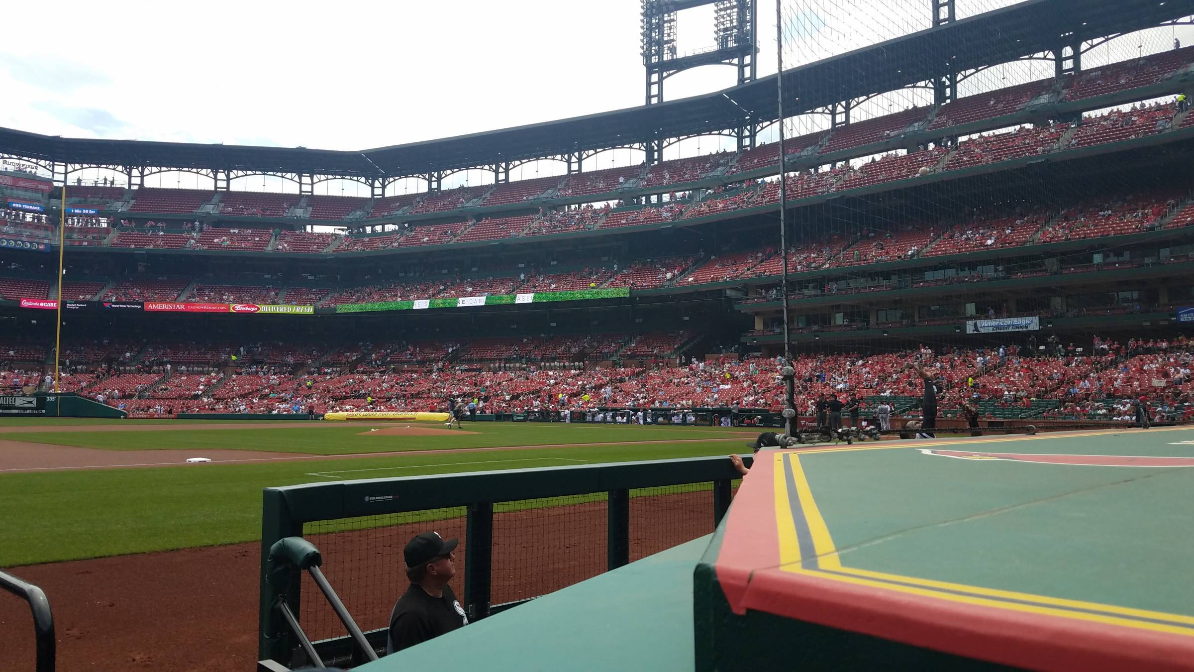
[[[749,456],[745,459],[747,464],[751,462]],[[615,569],[630,561],[630,490],[709,483],[712,506],[706,515],[709,531],[713,531],[730,507],[732,482],[737,478],[740,475],[725,457],[702,457],[266,488],[261,512],[258,660],[287,665],[293,661],[298,648],[307,649],[301,642],[300,630],[295,628],[302,617],[297,609],[301,603],[300,582],[279,581],[273,574],[273,568],[278,564],[276,544],[302,542],[304,524],[466,507],[462,604],[469,621],[476,621],[510,606],[491,603],[496,503],[602,495],[607,502],[607,558],[603,564],[605,569]],[[310,550],[314,551],[314,546]],[[318,555],[318,551],[314,552]],[[290,563],[289,567],[302,568],[303,564]],[[291,610],[295,623],[289,622],[279,600],[284,600]],[[345,619],[341,617],[340,621]],[[346,622],[344,624],[347,625]],[[383,641],[384,633],[386,630],[367,631],[364,637],[376,647]],[[356,634],[347,639],[314,642],[314,650],[324,660],[339,660],[351,655],[351,649],[358,648],[362,647]],[[310,656],[310,650],[306,655]]]

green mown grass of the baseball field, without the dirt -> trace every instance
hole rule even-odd
[[[140,421],[113,421],[131,426]],[[17,423],[5,422],[13,427]],[[41,426],[109,424],[63,422]],[[181,424],[181,423],[171,423]],[[425,451],[418,456],[302,459],[244,465],[0,472],[0,567],[252,542],[260,538],[261,489],[351,478],[670,459],[745,452],[720,428],[466,424],[478,434],[362,436],[368,423],[196,432],[4,433],[0,439],[105,450],[247,448],[337,456]],[[17,424],[20,426],[20,424]],[[24,426],[35,426],[25,421]],[[749,439],[743,438],[743,442]],[[635,441],[621,445],[602,442]],[[572,447],[441,453],[444,448],[570,444]]]

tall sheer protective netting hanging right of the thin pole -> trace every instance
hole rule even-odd
[[[1124,359],[1095,337],[1173,338],[1156,316],[1192,295],[1150,268],[1190,250],[1181,230],[1194,224],[1194,181],[1178,132],[1194,120],[1176,96],[1194,29],[1063,35],[1057,53],[1001,61],[986,57],[990,42],[917,33],[935,12],[944,31],[1015,2],[959,0],[952,16],[948,5],[778,2],[783,67],[819,68],[781,96],[801,414],[820,392],[917,413],[923,384],[904,367],[923,352],[943,373],[943,414],[970,401],[990,420],[1041,417],[1090,401],[1069,390]],[[1081,32],[1081,17],[1058,19]],[[916,48],[876,48],[896,38]],[[868,49],[891,86],[855,60]],[[898,81],[904,72],[934,75]],[[762,265],[778,273],[780,258]],[[753,299],[768,306],[753,311],[755,334],[771,354],[778,298],[776,283]]]

